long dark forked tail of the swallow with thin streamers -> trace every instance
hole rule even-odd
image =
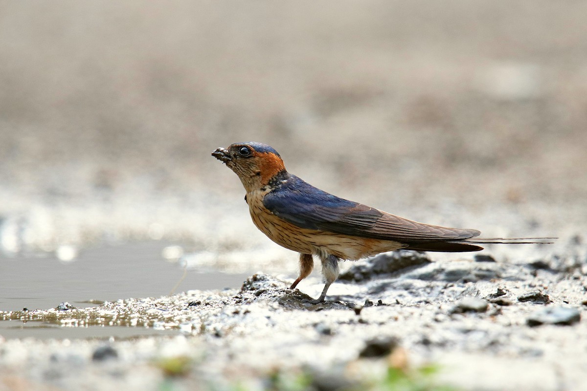
[[[470,237],[468,239],[438,242],[408,243],[405,250],[441,251],[447,253],[461,253],[466,251],[480,251],[479,244],[552,244],[551,239],[557,237]]]

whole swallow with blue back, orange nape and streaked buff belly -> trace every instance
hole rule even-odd
[[[322,263],[325,286],[315,304],[326,298],[339,275],[340,260],[358,260],[387,251],[462,252],[483,250],[480,244],[552,243],[556,238],[478,238],[475,229],[429,225],[404,219],[315,188],[285,169],[281,156],[260,142],[239,142],[217,148],[212,156],[238,175],[247,194],[253,223],[286,249],[299,253],[294,289]]]

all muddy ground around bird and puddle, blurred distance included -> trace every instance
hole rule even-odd
[[[165,240],[191,270],[260,271],[244,291],[4,311],[171,334],[0,338],[0,389],[587,388],[584,4],[0,7],[3,259]],[[296,255],[254,229],[237,177],[210,157],[237,141],[400,216],[559,239],[483,251],[496,262],[346,263],[329,291],[340,302],[304,304],[285,290]],[[316,297],[319,274],[299,288]]]

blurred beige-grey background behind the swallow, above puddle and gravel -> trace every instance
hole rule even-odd
[[[583,2],[2,1],[0,268],[157,241],[156,257],[195,270],[295,273],[210,156],[239,141],[410,219],[581,242],[584,15]],[[95,258],[89,270],[119,270],[116,251]]]

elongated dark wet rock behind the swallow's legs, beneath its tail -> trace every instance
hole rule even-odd
[[[430,263],[430,258],[415,251],[398,250],[391,253],[380,254],[367,259],[363,263],[357,263],[344,273],[340,273],[338,279],[346,281],[369,280],[379,274],[390,274],[403,268]]]

